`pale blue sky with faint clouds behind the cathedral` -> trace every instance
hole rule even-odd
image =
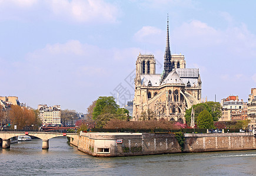
[[[246,2],[246,3],[245,3]],[[202,97],[247,101],[256,87],[256,1],[0,0],[0,96],[86,113],[99,96],[134,96],[139,52],[161,73],[171,53],[199,68]]]

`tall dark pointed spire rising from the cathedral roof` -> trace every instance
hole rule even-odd
[[[168,73],[172,71],[171,63],[171,49],[169,47],[169,16],[167,14],[167,39],[165,46],[165,55],[164,55],[164,75],[162,76],[162,81],[167,77]]]

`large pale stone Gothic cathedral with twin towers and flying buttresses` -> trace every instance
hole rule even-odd
[[[132,120],[141,120],[143,111],[155,113],[151,120],[185,123],[185,111],[201,101],[199,69],[187,69],[184,55],[171,55],[169,24],[162,74],[155,73],[154,55],[141,55],[136,61]]]

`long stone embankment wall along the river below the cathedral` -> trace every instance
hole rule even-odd
[[[184,134],[180,146],[175,134],[80,133],[70,143],[95,157],[256,150],[253,133]]]

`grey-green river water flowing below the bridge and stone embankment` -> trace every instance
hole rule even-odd
[[[256,175],[256,151],[95,158],[67,138],[11,144],[0,149],[0,175]]]

